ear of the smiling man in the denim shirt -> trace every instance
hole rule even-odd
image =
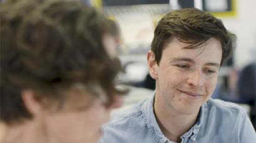
[[[149,74],[154,79],[158,79],[157,71],[158,65],[157,61],[155,60],[155,53],[152,50],[147,52],[147,67],[149,67]]]

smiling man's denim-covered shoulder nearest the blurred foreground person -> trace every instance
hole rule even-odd
[[[101,142],[134,142],[134,139],[140,135],[136,131],[145,130],[144,115],[140,102],[130,109],[122,111],[112,119],[111,122],[103,127],[104,136]],[[140,133],[141,134],[141,133]]]

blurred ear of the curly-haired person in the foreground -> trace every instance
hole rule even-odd
[[[32,116],[37,116],[42,111],[42,106],[39,101],[36,100],[34,92],[32,90],[22,90],[21,97],[23,102]]]

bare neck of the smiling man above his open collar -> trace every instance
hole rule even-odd
[[[170,109],[165,103],[160,103],[155,98],[154,114],[162,133],[170,141],[179,142],[180,136],[187,132],[195,124],[197,114],[181,114],[175,109]]]

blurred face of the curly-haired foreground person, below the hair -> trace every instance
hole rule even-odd
[[[66,94],[61,110],[42,113],[41,124],[48,142],[98,142],[103,134],[101,127],[109,121],[111,109],[121,105],[120,100],[106,108],[103,98],[92,98],[82,88],[67,90]]]

